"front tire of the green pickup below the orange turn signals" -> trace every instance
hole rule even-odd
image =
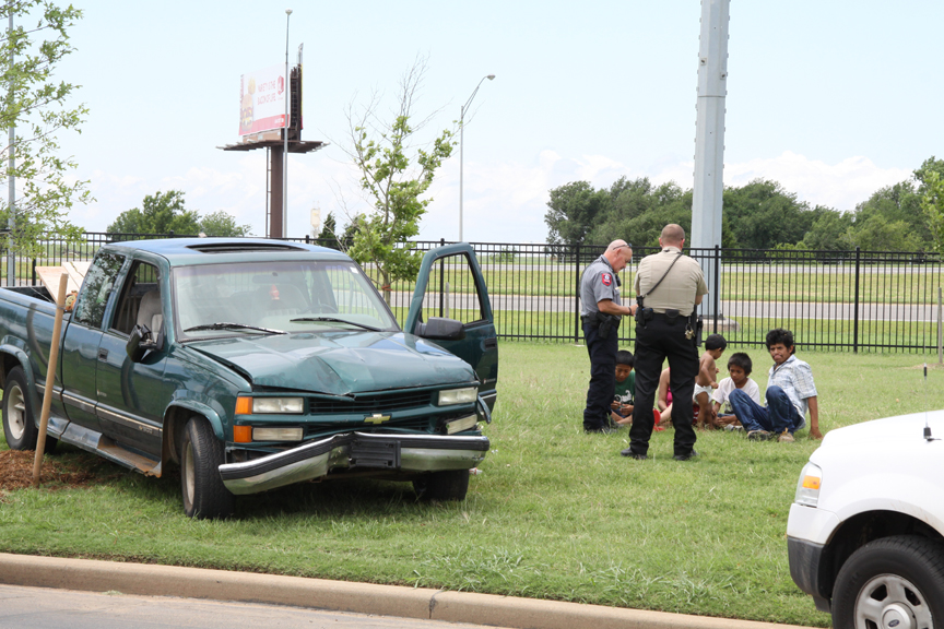
[[[223,485],[223,443],[203,417],[191,417],[180,439],[180,489],[189,518],[215,520],[233,514],[233,494]]]

